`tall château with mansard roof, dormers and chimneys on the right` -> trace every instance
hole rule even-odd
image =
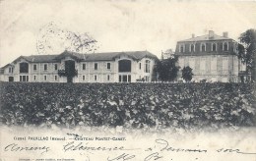
[[[181,70],[189,66],[193,69],[193,80],[208,80],[222,82],[237,82],[242,64],[238,59],[238,44],[228,38],[227,32],[223,36],[213,30],[209,34],[177,42],[175,55],[178,56],[178,66],[181,68],[178,80],[181,80]],[[193,81],[192,80],[192,81]]]

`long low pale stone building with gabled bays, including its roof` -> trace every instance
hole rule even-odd
[[[1,68],[2,81],[135,82],[154,79],[157,56],[148,51],[20,56]]]

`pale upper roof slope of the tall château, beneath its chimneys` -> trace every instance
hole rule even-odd
[[[201,35],[201,36],[197,36],[194,38],[189,38],[189,39],[185,39],[185,40],[180,40],[178,42],[194,42],[194,41],[206,41],[206,40],[230,40],[231,38],[228,37],[224,37],[218,34],[213,34],[213,37],[210,37],[209,34],[206,35]]]

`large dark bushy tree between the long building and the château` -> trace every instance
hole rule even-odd
[[[157,62],[157,71],[162,81],[172,81],[177,78],[179,67],[176,66],[177,57],[170,57]]]

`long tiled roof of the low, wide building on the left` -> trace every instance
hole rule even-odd
[[[93,53],[93,54],[80,54],[76,52],[64,51],[59,55],[31,55],[31,56],[20,56],[14,63],[20,59],[25,59],[31,63],[55,63],[59,62],[66,56],[70,56],[78,61],[111,61],[121,55],[126,55],[134,60],[141,60],[142,58],[148,57],[152,59],[158,59],[158,57],[149,51],[125,51],[125,52],[105,52],[105,53]],[[8,64],[9,65],[9,64]]]

